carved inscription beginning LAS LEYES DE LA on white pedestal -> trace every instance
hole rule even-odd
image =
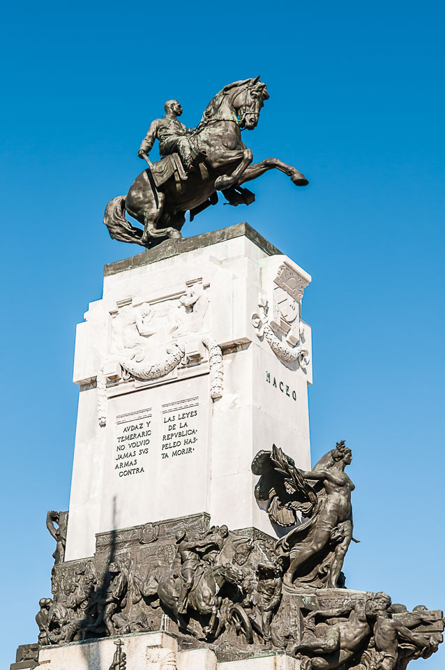
[[[164,459],[193,454],[198,442],[197,398],[163,405],[161,454]]]

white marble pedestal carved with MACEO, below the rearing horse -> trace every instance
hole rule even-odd
[[[105,267],[77,327],[66,560],[96,533],[202,512],[275,534],[250,465],[274,442],[310,468],[309,282],[247,224]]]

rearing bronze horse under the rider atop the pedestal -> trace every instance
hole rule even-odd
[[[306,186],[306,177],[278,158],[266,158],[252,165],[252,151],[241,140],[241,129],[257,126],[259,112],[268,98],[266,84],[259,82],[259,77],[225,86],[207,105],[199,126],[189,135],[202,156],[195,171],[183,181],[172,175],[156,186],[153,177],[172,158],[165,156],[153,165],[153,172],[141,172],[127,195],[113,198],[105,208],[104,223],[110,236],[147,248],[167,237],[182,237],[186,211],[190,211],[190,221],[193,220],[199,211],[218,202],[217,191],[222,191],[234,206],[250,204],[255,195],[241,188],[241,184],[273,168],[285,172],[296,186]],[[159,184],[161,180],[157,181]],[[144,226],[143,231],[126,220],[126,211]]]

